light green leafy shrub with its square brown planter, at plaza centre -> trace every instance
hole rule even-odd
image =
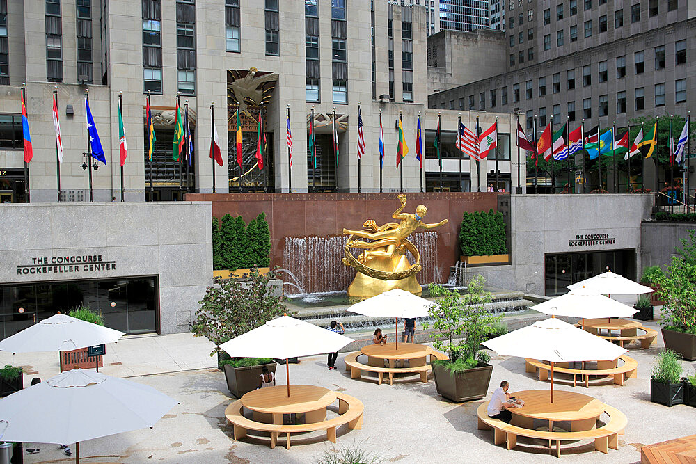
[[[455,403],[485,397],[491,382],[491,357],[480,349],[480,342],[494,330],[500,316],[493,316],[484,307],[492,301],[490,292],[483,289],[484,282],[482,275],[477,275],[468,282],[464,295],[429,285],[430,295],[438,299],[428,309],[432,323],[424,327],[434,329],[433,345],[450,357],[432,363],[435,387]],[[466,337],[464,341],[457,340],[461,336]]]

